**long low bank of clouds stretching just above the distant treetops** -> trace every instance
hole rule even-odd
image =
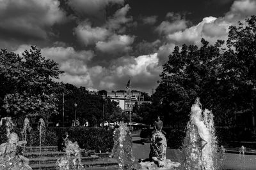
[[[29,45],[22,45],[15,52],[22,53],[25,49],[29,49]],[[56,81],[84,86],[86,89],[124,89],[122,83],[126,83],[127,78],[132,76],[132,88],[150,90],[152,85],[157,85],[162,70],[157,53],[113,59],[109,61],[109,67],[90,66],[88,62],[92,60],[93,52],[77,51],[72,47],[42,48],[42,55],[56,60],[60,70],[65,71],[60,75],[60,80]]]

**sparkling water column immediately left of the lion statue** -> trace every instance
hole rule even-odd
[[[112,157],[117,159],[120,169],[133,169],[135,158],[132,156],[132,136],[126,124],[121,122],[114,131]]]

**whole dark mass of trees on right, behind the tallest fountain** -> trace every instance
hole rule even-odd
[[[153,96],[165,120],[171,125],[186,125],[196,97],[212,110],[216,125],[234,125],[234,112],[255,114],[256,97],[256,17],[231,26],[227,47],[218,40],[214,45],[202,39],[202,46],[175,46],[163,65],[161,81]]]

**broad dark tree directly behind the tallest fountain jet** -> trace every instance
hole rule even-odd
[[[191,104],[196,97],[206,108],[212,108],[214,91],[218,89],[220,59],[223,41],[209,45],[202,39],[202,47],[183,45],[181,50],[175,46],[169,60],[163,65],[161,81],[154,94],[155,104],[170,124],[186,125]]]

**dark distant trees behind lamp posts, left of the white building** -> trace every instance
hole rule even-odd
[[[98,126],[102,123],[103,107],[104,120],[108,122],[116,121],[122,112],[115,101],[111,101],[109,98],[103,100],[100,93],[89,94],[83,87],[77,88],[69,83],[63,84],[63,87],[63,92],[60,92],[58,96],[58,111],[63,111],[64,93],[66,126],[72,125],[72,120],[75,120],[75,111],[80,125],[84,125],[88,121],[90,126]],[[102,90],[102,92],[104,93],[105,91]],[[77,108],[75,108],[74,103],[77,103]],[[62,120],[62,115],[52,117],[52,120]]]

